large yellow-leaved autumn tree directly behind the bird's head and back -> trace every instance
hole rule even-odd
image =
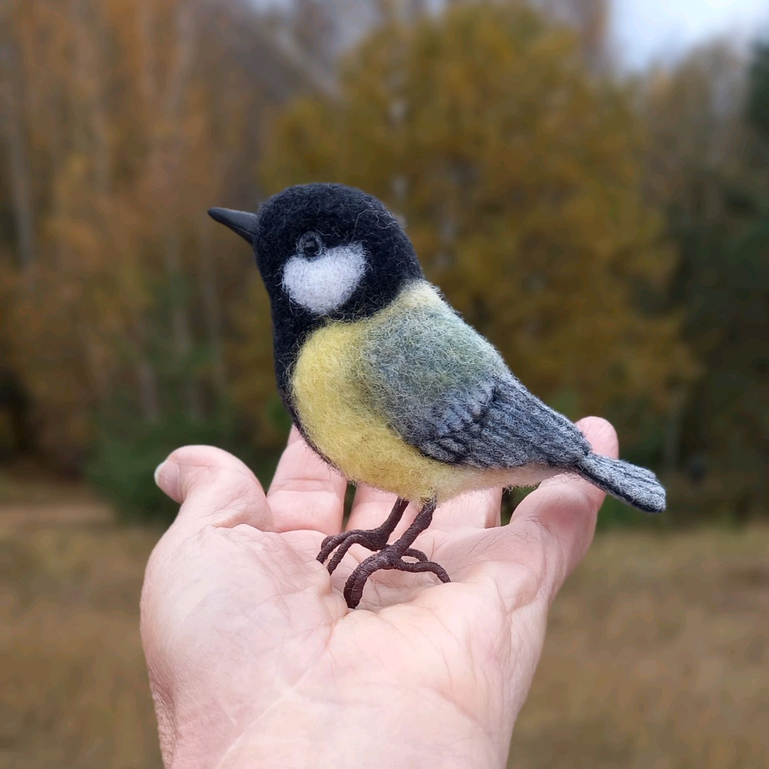
[[[641,134],[568,28],[519,3],[451,5],[362,42],[338,99],[292,103],[262,178],[384,199],[524,383],[657,450],[691,362],[656,312],[673,261],[641,197]]]

